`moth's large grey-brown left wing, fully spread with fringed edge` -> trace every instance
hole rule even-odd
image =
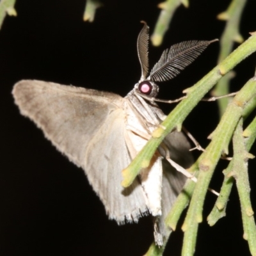
[[[109,218],[138,221],[147,213],[138,180],[121,186],[122,170],[131,162],[124,140],[124,98],[44,81],[24,80],[13,88],[20,113],[44,131],[45,137],[81,166],[102,200]]]

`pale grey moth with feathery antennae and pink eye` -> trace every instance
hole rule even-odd
[[[141,170],[129,188],[121,186],[122,170],[166,118],[150,100],[157,96],[156,83],[177,76],[212,41],[172,45],[148,76],[148,30],[143,22],[137,41],[141,78],[126,97],[36,80],[19,81],[12,93],[20,113],[35,122],[70,161],[83,168],[109,218],[124,224],[152,214],[155,241],[161,246],[170,233],[164,227],[164,218],[186,181],[164,159],[165,150],[173,161],[188,168],[193,157],[186,136],[178,131],[168,134],[150,166]]]

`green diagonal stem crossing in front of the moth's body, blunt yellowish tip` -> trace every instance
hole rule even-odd
[[[146,168],[150,164],[150,159],[156,152],[157,147],[163,141],[164,137],[177,127],[181,129],[182,122],[188,116],[196,104],[204,97],[204,95],[211,90],[212,86],[237,63],[244,60],[247,56],[256,51],[256,33],[241,44],[232,52],[225,60],[213,68],[206,76],[204,76],[198,83],[184,92],[187,93],[187,98],[182,100],[172,113],[166,117],[161,127],[157,128],[152,133],[152,138],[147,142],[147,145],[139,152],[131,164],[122,171],[124,180],[122,186],[128,187],[131,185],[135,177],[140,173],[142,168]]]

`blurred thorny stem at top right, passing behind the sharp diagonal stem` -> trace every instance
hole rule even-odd
[[[226,12],[220,13],[217,18],[220,20],[227,20],[225,30],[220,39],[220,55],[218,58],[218,63],[224,60],[228,54],[233,49],[234,42],[241,44],[243,42],[243,37],[239,34],[239,22],[241,19],[241,14],[244,9],[246,0],[233,0]],[[212,91],[212,95],[218,97],[221,95],[226,95],[229,93],[229,83],[230,79],[234,77],[234,74],[227,74],[223,77],[216,87]],[[227,104],[230,102],[230,97],[218,100],[218,106],[220,111],[220,116],[223,115]]]

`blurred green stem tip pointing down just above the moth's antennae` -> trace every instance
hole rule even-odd
[[[159,46],[162,44],[163,36],[169,28],[173,13],[180,4],[184,4],[185,7],[188,7],[188,0],[166,0],[158,5],[162,10],[157,19],[154,32],[150,38],[153,45]]]

